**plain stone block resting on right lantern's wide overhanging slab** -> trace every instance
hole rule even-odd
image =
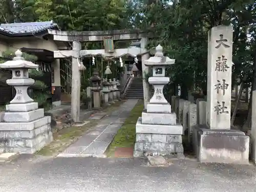
[[[176,125],[175,113],[146,113],[142,112],[142,124]]]

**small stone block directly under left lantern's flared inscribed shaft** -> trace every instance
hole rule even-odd
[[[31,103],[19,103],[19,104],[7,104],[6,111],[7,112],[28,112],[34,111],[38,109],[37,102]]]

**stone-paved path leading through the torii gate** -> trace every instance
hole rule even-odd
[[[117,111],[99,120],[94,129],[83,135],[57,157],[105,157],[106,148],[137,102],[138,99],[125,101]]]

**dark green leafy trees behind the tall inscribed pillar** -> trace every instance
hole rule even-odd
[[[255,55],[255,2],[251,0],[131,1],[130,20],[136,28],[154,34],[148,47],[161,44],[165,54],[175,58],[167,75],[180,84],[182,93],[193,85],[206,91],[208,30],[232,25],[233,80],[245,73],[251,82]],[[248,38],[250,37],[250,38]],[[254,54],[253,54],[254,53]],[[242,73],[241,73],[242,72]],[[170,89],[171,84],[168,86]]]

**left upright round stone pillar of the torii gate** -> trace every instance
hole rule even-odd
[[[73,41],[72,45],[72,91],[71,91],[71,117],[74,122],[79,122],[80,116],[80,87],[81,74],[79,71],[81,43]]]

